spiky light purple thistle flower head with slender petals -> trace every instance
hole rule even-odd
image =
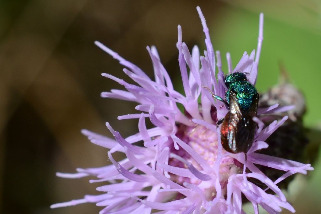
[[[97,179],[90,180],[91,183],[107,184],[97,188],[103,192],[100,195],[86,195],[83,199],[54,204],[52,208],[92,202],[104,207],[100,214],[244,213],[243,194],[253,204],[255,213],[258,213],[258,205],[269,213],[278,213],[281,208],[295,211],[277,184],[294,173],[306,174],[307,170],[313,168],[310,164],[256,153],[268,147],[265,140],[287,120],[287,116],[264,129],[263,122],[254,118],[258,128],[254,143],[247,152],[247,161],[243,153],[231,154],[221,146],[220,129],[215,124],[228,110],[221,107],[221,103],[216,102],[211,93],[203,88],[213,89],[214,94],[224,97],[226,86],[221,55],[219,51],[214,52],[204,16],[199,7],[197,11],[205,33],[204,56],[200,56],[197,46],[193,47],[190,54],[187,45],[182,42],[181,27],[178,26],[178,62],[185,96],[174,90],[155,47],[147,47],[154,68],[155,80],[152,80],[136,65],[100,42],[95,42],[124,65],[124,72],[137,83],[129,84],[103,73],[102,76],[117,81],[126,90],[111,90],[101,93],[101,96],[139,103],[135,109],[142,113],[118,117],[119,120],[139,118],[139,133],[123,138],[109,123],[106,126],[114,139],[82,130],[92,143],[110,149],[108,157],[112,165],[78,168],[75,174],[57,173],[57,176],[81,178],[93,175]],[[246,73],[248,81],[255,85],[262,40],[263,14],[260,14],[256,53],[255,50],[250,55],[244,52],[234,69],[228,53],[229,73]],[[178,103],[184,106],[185,113],[178,109]],[[258,115],[291,108],[273,105],[259,109]],[[146,118],[155,127],[147,129]],[[144,146],[133,145],[138,141],[143,141]],[[127,158],[117,163],[113,158],[116,151],[125,153]],[[272,181],[255,164],[282,170],[284,174]],[[138,170],[141,173],[136,173]],[[253,178],[268,188],[261,189],[248,181]],[[275,194],[267,193],[268,189]]]

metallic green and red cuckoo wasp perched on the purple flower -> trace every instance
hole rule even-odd
[[[256,88],[247,81],[244,73],[236,72],[225,75],[227,91],[225,100],[217,95],[213,98],[225,103],[229,112],[217,124],[221,126],[221,143],[231,153],[245,153],[253,144],[259,95]]]

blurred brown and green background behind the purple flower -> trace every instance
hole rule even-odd
[[[134,103],[100,98],[121,87],[100,76],[126,78],[122,66],[95,47],[99,40],[152,76],[146,46],[155,45],[174,80],[178,70],[177,25],[191,49],[204,50],[199,5],[215,50],[230,52],[235,67],[256,48],[259,13],[265,13],[257,89],[278,82],[279,62],[306,96],[304,122],[320,141],[321,2],[272,1],[8,1],[0,2],[0,213],[98,213],[94,204],[50,210],[52,203],[96,194],[88,178],[57,178],[56,171],[108,164],[107,150],[80,130],[110,136],[108,121],[123,136],[138,131]],[[226,60],[223,59],[226,71]],[[128,80],[128,79],[127,79]],[[317,146],[314,147],[318,149]],[[319,153],[320,154],[320,153]],[[320,156],[320,155],[319,155]],[[321,213],[321,164],[297,176],[289,199],[297,213]],[[284,212],[285,213],[285,212]]]

